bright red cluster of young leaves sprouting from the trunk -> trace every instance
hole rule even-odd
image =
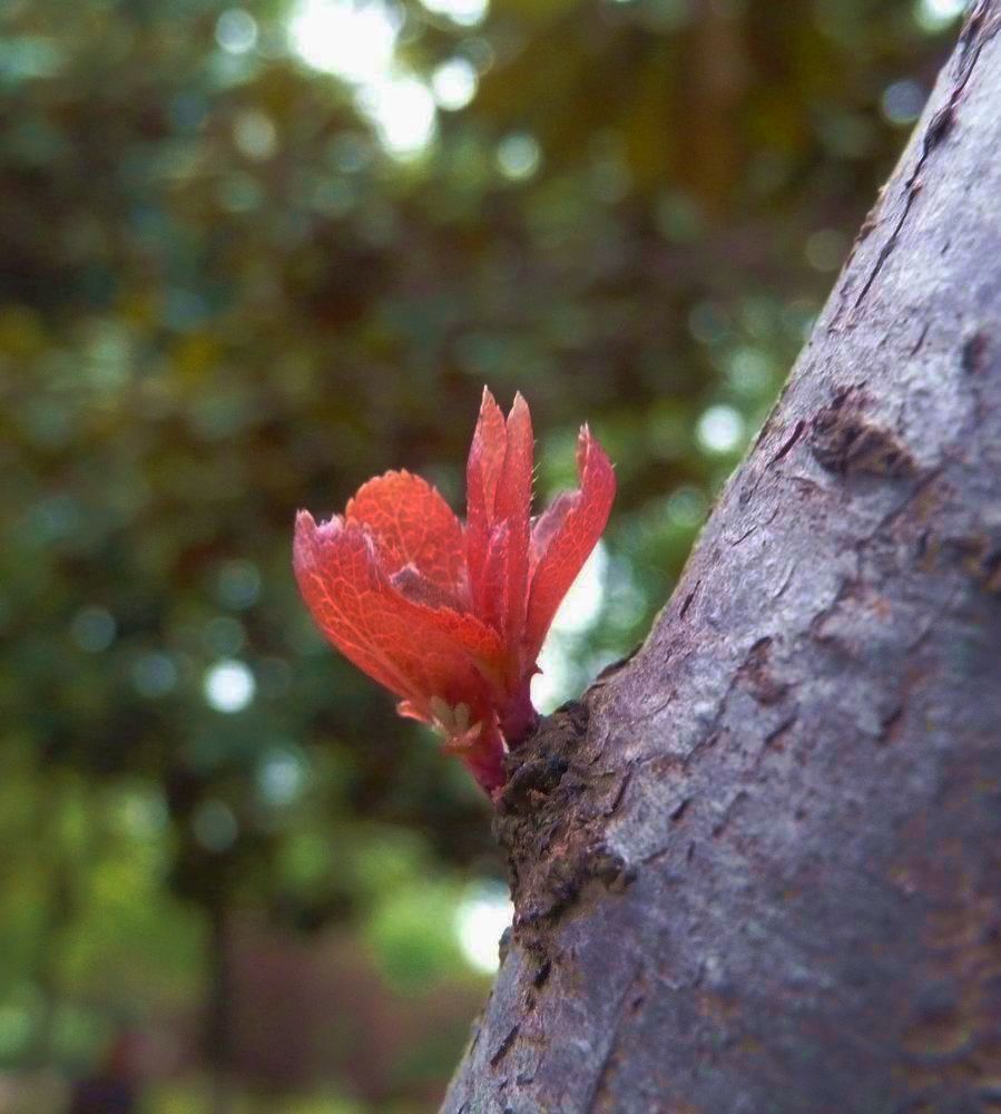
[[[359,668],[430,723],[480,784],[502,782],[506,742],[538,716],[529,685],[560,600],[595,547],[615,497],[587,428],[580,490],[531,526],[532,422],[517,394],[507,421],[488,390],[467,465],[465,529],[409,472],[359,490],[344,518],[295,529],[295,573],[314,618]]]

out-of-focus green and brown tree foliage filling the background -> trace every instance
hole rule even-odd
[[[217,917],[350,926],[404,995],[464,977],[448,921],[500,872],[488,810],[311,626],[295,509],[390,467],[461,506],[483,382],[521,389],[540,497],[582,420],[620,480],[565,683],[630,649],[958,14],[330,0],[391,27],[391,87],[345,79],[382,40],[317,3],[0,9],[7,1065],[190,1004]],[[403,157],[428,82],[446,107]]]

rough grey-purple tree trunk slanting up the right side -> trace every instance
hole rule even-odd
[[[1001,1111],[999,29],[648,642],[512,759],[444,1110]]]

